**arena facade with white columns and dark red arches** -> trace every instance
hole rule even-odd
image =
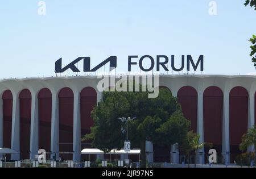
[[[90,112],[101,100],[100,80],[97,76],[1,80],[0,147],[20,152],[10,156],[13,160],[34,159],[43,148],[51,158],[80,161],[81,149],[90,147],[81,137],[90,131]],[[200,141],[213,143],[218,155],[233,163],[241,153],[241,136],[255,124],[256,77],[160,75],[159,86],[178,98]],[[178,163],[182,155],[174,146],[149,141],[146,148],[150,161]],[[199,152],[199,163],[207,153],[208,148]]]

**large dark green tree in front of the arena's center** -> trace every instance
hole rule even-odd
[[[125,123],[118,118],[133,117],[129,121],[128,139],[132,148],[141,148],[141,166],[146,166],[146,140],[154,144],[171,145],[184,140],[190,122],[181,113],[177,98],[168,89],[160,89],[157,98],[148,98],[148,92],[104,91],[102,101],[94,107],[94,125],[84,140],[92,140],[93,147],[104,152],[121,149],[126,139]]]

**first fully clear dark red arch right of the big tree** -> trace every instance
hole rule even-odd
[[[204,141],[212,143],[218,155],[222,152],[223,93],[217,86],[204,90]],[[208,154],[209,148],[205,147]],[[207,160],[206,160],[207,161]]]

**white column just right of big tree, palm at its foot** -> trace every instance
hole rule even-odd
[[[197,94],[197,134],[200,135],[199,143],[204,142],[204,115],[203,115],[203,90],[199,89]],[[197,153],[197,163],[204,164],[204,147]]]

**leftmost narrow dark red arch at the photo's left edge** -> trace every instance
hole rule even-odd
[[[3,148],[11,148],[11,123],[13,117],[13,94],[10,90],[5,90],[2,95],[3,105]],[[10,160],[10,155],[6,155]]]

